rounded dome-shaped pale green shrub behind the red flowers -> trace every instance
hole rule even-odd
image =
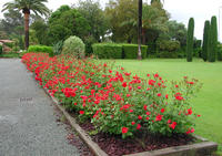
[[[84,58],[85,45],[83,41],[73,35],[68,38],[62,46],[62,54],[71,54],[77,58]]]

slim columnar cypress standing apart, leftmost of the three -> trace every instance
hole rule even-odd
[[[186,61],[192,62],[193,59],[193,32],[194,32],[194,19],[190,18],[188,25],[186,37]]]

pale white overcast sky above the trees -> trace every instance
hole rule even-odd
[[[10,0],[0,0],[0,10],[2,4]],[[47,6],[56,10],[61,4],[77,4],[78,0],[48,0]],[[105,6],[109,0],[100,0],[102,7]],[[143,0],[143,2],[150,2],[150,0]],[[221,7],[221,8],[220,8]],[[210,20],[212,15],[216,15],[219,20],[220,8],[220,21],[222,20],[222,0],[164,0],[164,9],[171,14],[172,20],[188,24],[190,17],[194,18],[195,30],[194,35],[202,40],[204,21]],[[2,12],[0,18],[2,18]],[[222,22],[220,23],[220,25]],[[220,27],[220,31],[222,25]],[[220,33],[222,34],[222,33]],[[220,38],[220,37],[219,37]],[[220,38],[220,41],[222,38]]]

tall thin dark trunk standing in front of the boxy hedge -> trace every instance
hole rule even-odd
[[[142,0],[138,0],[138,60],[142,60],[141,33],[142,33]]]

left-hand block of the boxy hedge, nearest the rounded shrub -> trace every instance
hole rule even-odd
[[[92,45],[93,53],[99,59],[121,59],[122,45],[114,43],[95,43]]]

